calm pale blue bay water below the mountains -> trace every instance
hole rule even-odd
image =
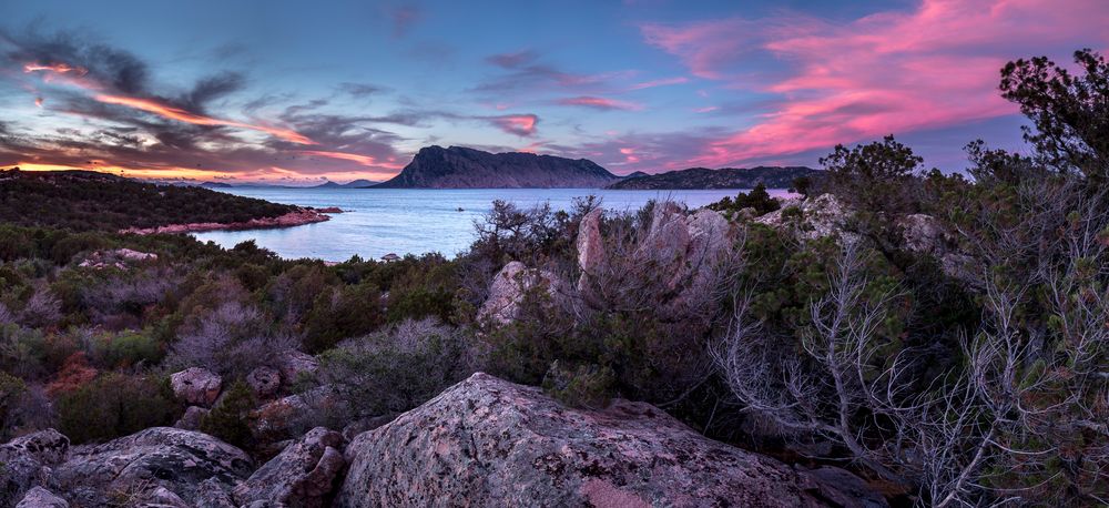
[[[691,207],[704,206],[730,191],[602,191],[597,189],[221,189],[222,192],[302,206],[338,206],[346,213],[317,224],[279,230],[214,231],[196,233],[201,241],[222,246],[254,240],[286,258],[315,257],[346,261],[357,254],[377,258],[394,252],[440,252],[454,256],[474,241],[474,221],[491,209],[494,200],[527,207],[549,202],[569,209],[574,197],[601,197],[610,210],[638,210],[649,200],[670,197]],[[785,191],[771,191],[784,194]],[[459,212],[458,209],[462,209]]]

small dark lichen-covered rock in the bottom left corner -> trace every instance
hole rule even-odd
[[[52,428],[0,445],[0,506],[13,506],[33,487],[49,484],[50,467],[69,448],[69,438]]]

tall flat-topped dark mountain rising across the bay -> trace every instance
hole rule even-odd
[[[619,180],[584,159],[462,146],[427,146],[405,169],[377,189],[572,189],[603,187]]]

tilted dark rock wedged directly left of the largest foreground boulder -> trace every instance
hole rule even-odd
[[[241,505],[273,501],[291,507],[324,506],[343,466],[343,435],[324,427],[308,430],[233,490]]]

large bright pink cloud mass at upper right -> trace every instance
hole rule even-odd
[[[1103,47],[1106,27],[1098,0],[924,0],[846,23],[733,18],[641,32],[694,75],[779,98],[693,160],[725,165],[1014,114],[997,92],[1006,61]]]

